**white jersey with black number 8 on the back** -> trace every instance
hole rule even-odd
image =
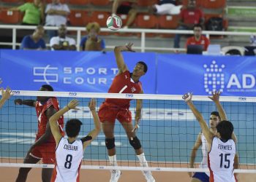
[[[56,149],[56,165],[53,170],[52,182],[79,181],[80,164],[83,159],[82,141],[69,143],[61,138]]]

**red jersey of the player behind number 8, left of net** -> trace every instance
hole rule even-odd
[[[46,130],[46,124],[48,122],[47,116],[45,115],[45,111],[50,108],[50,106],[53,106],[53,108],[56,109],[56,111],[59,111],[59,101],[57,98],[49,98],[45,104],[41,104],[39,101],[36,102],[36,111],[37,111],[37,118],[38,118],[38,132],[37,132],[37,138],[36,141],[45,134]],[[59,124],[59,131],[61,132],[61,135],[64,136],[64,117],[61,116],[61,118],[58,120]],[[55,140],[53,138],[53,135],[50,136],[48,143],[55,143]]]

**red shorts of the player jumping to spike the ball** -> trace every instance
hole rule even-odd
[[[99,120],[100,122],[132,122],[132,113],[129,108],[122,108],[113,103],[102,103],[99,107]]]

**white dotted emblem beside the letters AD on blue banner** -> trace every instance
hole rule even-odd
[[[206,92],[208,94],[216,90],[223,92],[225,87],[225,74],[222,71],[225,65],[222,64],[219,66],[216,61],[213,60],[210,66],[204,64],[203,68],[206,69],[206,73],[204,74],[204,87]]]

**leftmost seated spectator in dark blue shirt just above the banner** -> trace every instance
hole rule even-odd
[[[44,39],[42,39],[44,34],[45,29],[42,25],[38,25],[32,35],[23,37],[20,45],[20,50],[45,50],[45,41]]]

